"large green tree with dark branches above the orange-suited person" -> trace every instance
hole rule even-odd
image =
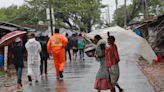
[[[52,0],[56,26],[68,24],[70,28],[91,31],[100,21],[101,0]],[[38,11],[48,7],[48,0],[30,0],[28,5]],[[43,12],[42,12],[43,13]]]

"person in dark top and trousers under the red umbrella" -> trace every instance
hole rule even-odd
[[[17,90],[22,88],[22,72],[23,72],[23,54],[24,54],[24,47],[22,44],[22,40],[18,37],[15,40],[15,44],[12,48],[12,56],[13,56],[13,64],[16,69],[16,75],[17,75]]]

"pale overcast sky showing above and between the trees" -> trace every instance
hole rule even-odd
[[[129,4],[131,2],[131,0],[127,0],[127,3]],[[24,0],[0,0],[0,8],[2,7],[9,7],[10,5],[22,5],[24,3]],[[116,9],[116,5],[115,5],[115,0],[102,0],[103,4],[109,5],[110,6],[110,18],[112,20],[112,15],[114,13],[114,10]],[[124,4],[124,0],[118,0],[118,4],[119,5],[123,5]],[[103,9],[102,10],[103,16],[106,17],[106,13],[107,9]]]

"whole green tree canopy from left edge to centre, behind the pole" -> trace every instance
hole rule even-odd
[[[25,4],[0,9],[0,21],[16,24],[37,24],[46,19],[49,0],[25,0]],[[101,0],[51,0],[54,10],[55,26],[90,32],[100,23]],[[68,26],[66,26],[68,25]]]

